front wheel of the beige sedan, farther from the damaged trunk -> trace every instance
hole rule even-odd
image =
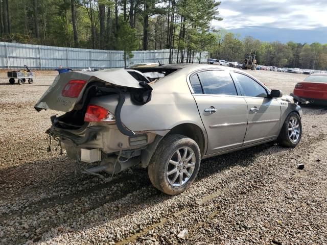
[[[300,142],[301,136],[301,118],[296,112],[291,112],[284,121],[277,141],[282,146],[294,148]]]

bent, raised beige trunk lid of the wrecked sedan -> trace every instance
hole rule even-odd
[[[66,97],[62,95],[62,90],[71,80],[84,80],[86,84],[77,97]],[[90,82],[105,82],[114,87],[124,87],[130,89],[149,89],[145,85],[133,78],[129,72],[122,68],[106,69],[100,71],[73,71],[59,74],[52,85],[45,91],[41,99],[34,108],[37,111],[51,109],[57,111],[72,111],[84,94],[87,84]],[[147,85],[147,84],[146,84]],[[149,85],[148,85],[149,86]],[[150,87],[150,86],[149,86]],[[152,88],[151,88],[152,89]]]

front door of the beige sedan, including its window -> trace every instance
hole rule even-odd
[[[232,72],[248,106],[248,126],[244,145],[276,138],[281,122],[281,105],[268,98],[267,89],[249,76]]]

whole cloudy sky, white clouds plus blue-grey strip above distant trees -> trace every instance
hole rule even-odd
[[[217,28],[239,31],[242,35],[257,32],[260,39],[327,43],[327,0],[220,1],[219,16],[224,20],[213,21]]]

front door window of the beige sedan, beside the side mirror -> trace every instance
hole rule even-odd
[[[235,77],[241,85],[245,96],[262,98],[267,97],[267,90],[252,78],[237,72],[233,72],[233,77]]]

